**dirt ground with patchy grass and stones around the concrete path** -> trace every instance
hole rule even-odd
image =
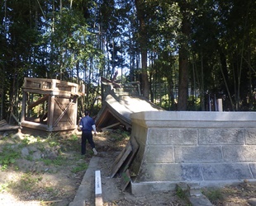
[[[120,130],[98,133],[94,137],[102,166],[111,171],[117,155],[126,147],[129,133]],[[48,137],[0,134],[0,206],[52,205],[65,206],[73,201],[93,156],[88,145],[85,157],[80,155],[80,133],[52,135]],[[107,193],[115,199],[107,199],[112,205],[189,205],[175,191],[136,197],[129,187],[121,191],[121,178],[112,178],[116,188]],[[102,182],[102,184],[105,184]],[[118,192],[116,192],[116,190]],[[203,190],[214,205],[250,205],[256,197],[256,185],[243,184],[223,189]]]

